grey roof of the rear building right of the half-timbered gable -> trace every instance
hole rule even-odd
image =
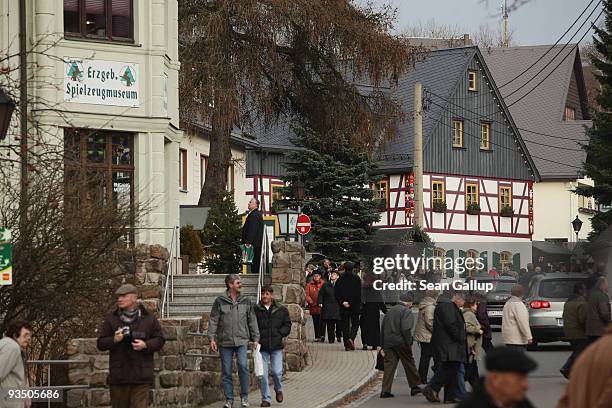
[[[570,51],[570,48],[566,47],[535,80],[516,94],[510,97],[506,96],[532,78],[535,73],[553,59],[561,47],[561,45],[556,46],[534,68],[511,84],[503,87],[501,87],[503,84],[523,72],[538,58],[542,57],[550,46],[493,48],[483,50],[482,52],[497,86],[501,87],[500,92],[504,96],[506,104],[509,105],[512,117],[543,179],[573,179],[581,177],[580,169],[576,167],[581,167],[582,163],[586,160],[586,153],[580,149],[579,143],[588,141],[588,137],[585,134],[585,126],[591,126],[591,122],[588,120],[563,120],[570,79],[574,69],[580,71],[577,75],[578,86],[584,87],[578,50]],[[548,75],[566,55],[568,57],[548,79],[527,97],[512,105],[514,101],[525,95],[528,90]],[[538,135],[527,130],[559,136],[559,138]],[[555,149],[550,146],[575,150]]]

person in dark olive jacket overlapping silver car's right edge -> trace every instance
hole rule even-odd
[[[563,306],[563,332],[572,345],[572,354],[569,356],[561,374],[569,378],[570,370],[574,361],[587,345],[586,339],[586,287],[579,282],[574,285],[573,294],[567,299]]]

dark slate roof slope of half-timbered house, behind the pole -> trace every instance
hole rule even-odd
[[[414,123],[411,120],[414,112],[414,84],[420,81],[424,89],[439,95],[446,100],[452,98],[459,78],[474,58],[476,47],[450,48],[427,53],[400,80],[392,93],[402,104],[406,114],[405,120],[398,125],[397,134],[387,141],[381,151],[383,159],[397,155],[407,156],[404,160],[383,160],[381,170],[409,170],[412,167],[414,150]],[[444,108],[430,105],[423,116],[423,146],[434,131]]]

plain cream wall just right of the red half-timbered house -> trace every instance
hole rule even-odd
[[[571,222],[576,218],[582,221],[579,239],[586,239],[591,232],[592,215],[581,212],[579,196],[572,193],[578,183],[592,185],[590,179],[542,181],[533,184],[533,240],[567,238],[576,241]]]

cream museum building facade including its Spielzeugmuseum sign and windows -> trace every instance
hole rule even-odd
[[[13,55],[12,69],[18,6],[0,3],[0,52]],[[85,167],[104,167],[106,197],[148,203],[135,239],[169,246],[182,140],[177,1],[28,0],[26,19],[28,99],[45,137],[77,143]]]

